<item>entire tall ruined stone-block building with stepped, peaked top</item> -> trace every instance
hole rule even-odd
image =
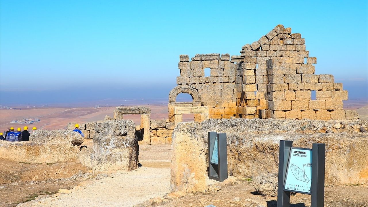
[[[316,63],[301,34],[283,25],[244,45],[240,56],[197,54],[190,61],[180,55],[178,86],[169,94],[170,122],[177,106],[208,106],[215,119],[358,119],[355,110],[343,110],[348,93],[342,83],[330,74],[314,74]],[[175,102],[180,92],[192,95],[193,102]]]

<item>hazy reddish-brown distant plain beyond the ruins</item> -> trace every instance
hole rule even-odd
[[[130,103],[131,106],[141,105],[150,107],[151,119],[168,119],[167,102],[158,101],[152,103],[135,101]],[[9,127],[14,127],[15,129],[20,127],[23,130],[24,126],[28,126],[30,130],[34,126],[37,129],[65,129],[69,122],[85,123],[103,120],[106,115],[112,117],[115,106],[105,105],[100,108],[83,107],[81,105],[78,105],[78,107],[43,106],[35,108],[33,106],[32,108],[14,106],[13,108],[16,109],[0,109],[0,131],[5,131]],[[365,99],[344,101],[344,109],[357,110],[361,119],[368,120],[368,102]],[[38,118],[40,122],[35,122],[34,124],[11,123],[12,120],[22,120],[23,118],[31,120]],[[124,119],[131,119],[135,124],[140,124],[140,115],[124,115]],[[183,117],[183,121],[192,120],[194,120],[194,115],[185,115]]]

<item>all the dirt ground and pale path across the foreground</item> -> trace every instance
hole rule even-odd
[[[91,146],[91,140],[84,143]],[[242,178],[220,183],[208,180],[212,187],[208,193],[187,194],[173,199],[170,193],[171,145],[141,145],[139,163],[141,166],[131,172],[116,172],[101,179],[87,178],[89,185],[73,191],[37,199],[38,207],[276,207],[277,197],[259,195],[251,179]],[[79,171],[88,172],[76,162],[51,165],[35,165],[0,160],[0,206],[16,206],[20,201],[35,199],[39,194],[54,194],[59,188],[71,189],[81,182],[68,179]],[[46,171],[46,172],[45,172]],[[38,176],[34,182],[32,179]],[[225,185],[224,183],[227,184]],[[17,183],[18,185],[15,185]],[[325,207],[367,207],[368,187],[326,186]],[[162,197],[163,202],[151,203],[149,199]],[[291,195],[291,207],[309,207],[310,196]]]

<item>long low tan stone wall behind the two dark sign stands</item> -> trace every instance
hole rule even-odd
[[[202,185],[194,183],[205,182],[207,176],[208,131],[227,133],[230,175],[277,173],[279,140],[293,140],[295,147],[304,148],[311,148],[312,143],[326,143],[326,184],[368,182],[367,120],[210,119],[180,123],[175,128],[171,189],[193,185],[189,192],[203,190]],[[187,153],[188,148],[202,149],[203,153]],[[185,170],[178,171],[178,166]]]

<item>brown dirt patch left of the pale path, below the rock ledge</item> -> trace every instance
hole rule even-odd
[[[39,195],[54,194],[81,182],[67,179],[87,168],[77,162],[29,164],[0,159],[0,206],[16,206]]]

